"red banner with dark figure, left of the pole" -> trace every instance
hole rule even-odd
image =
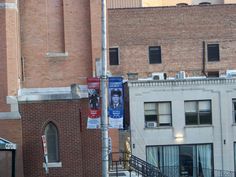
[[[101,122],[101,105],[100,105],[100,79],[88,78],[88,129],[100,128]]]

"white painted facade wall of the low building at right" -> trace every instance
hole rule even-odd
[[[236,126],[232,99],[235,80],[130,82],[131,141],[134,155],[146,160],[147,145],[213,143],[214,168],[234,171]],[[212,125],[185,125],[184,101],[211,100]],[[144,102],[170,101],[172,126],[145,128]],[[183,139],[176,139],[182,135]]]

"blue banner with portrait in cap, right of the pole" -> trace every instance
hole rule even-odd
[[[110,77],[108,89],[108,114],[109,128],[123,128],[124,102],[123,102],[123,78]]]

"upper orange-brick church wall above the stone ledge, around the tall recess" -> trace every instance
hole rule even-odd
[[[47,1],[21,1],[21,45],[25,60],[23,87],[59,87],[86,83],[92,75],[90,1],[63,0],[64,45],[69,56],[48,58]],[[56,2],[56,1],[55,1]],[[53,5],[52,5],[53,7]],[[50,24],[50,31],[58,24]],[[50,40],[50,41],[48,41]]]

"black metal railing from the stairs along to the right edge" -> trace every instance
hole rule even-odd
[[[208,168],[180,166],[153,166],[146,161],[126,152],[110,153],[109,170],[117,174],[119,171],[135,171],[143,177],[236,177],[236,172]]]

